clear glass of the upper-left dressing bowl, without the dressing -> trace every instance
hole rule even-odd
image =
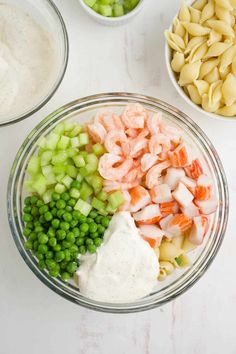
[[[54,76],[48,91],[42,94],[37,102],[34,102],[33,105],[31,107],[29,106],[25,111],[6,116],[4,120],[0,121],[0,127],[28,118],[51,99],[65,75],[69,55],[66,26],[58,8],[51,0],[4,0],[4,4],[15,5],[22,9],[50,33],[57,61],[54,67]]]

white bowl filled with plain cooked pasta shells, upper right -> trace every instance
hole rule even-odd
[[[167,70],[179,94],[213,118],[236,117],[236,1],[182,2],[165,31]]]

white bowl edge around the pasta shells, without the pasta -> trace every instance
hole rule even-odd
[[[191,3],[190,1],[188,1],[188,3]],[[177,15],[175,16],[177,17]],[[175,19],[174,17],[174,19]],[[173,20],[174,20],[173,19]],[[173,21],[172,21],[173,23]],[[172,24],[169,28],[169,30],[172,29]],[[177,82],[177,78],[176,75],[174,73],[174,71],[171,68],[171,55],[172,55],[172,49],[169,47],[167,41],[165,42],[165,61],[166,61],[166,67],[167,67],[167,71],[170,77],[170,80],[172,82],[172,84],[174,85],[176,91],[180,94],[180,96],[194,109],[196,109],[198,112],[201,112],[203,114],[205,114],[208,117],[211,118],[216,118],[216,119],[220,119],[220,120],[228,120],[228,121],[232,121],[233,119],[235,119],[235,117],[226,117],[226,116],[222,116],[220,114],[216,114],[216,113],[211,113],[211,112],[207,112],[205,111],[203,108],[201,108],[201,106],[197,105],[196,103],[194,103],[190,97],[184,92],[184,90],[182,89],[181,86],[179,86],[178,82]]]

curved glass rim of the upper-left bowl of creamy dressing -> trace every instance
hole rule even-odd
[[[10,120],[4,120],[4,121],[0,122],[0,128],[5,127],[7,125],[12,125],[12,124],[18,123],[24,119],[29,118],[34,113],[38,112],[54,96],[54,94],[56,93],[57,89],[59,88],[59,86],[65,76],[67,65],[68,65],[68,59],[69,59],[68,32],[66,29],[64,19],[61,15],[61,12],[58,9],[58,7],[56,6],[56,4],[52,0],[45,0],[45,1],[46,1],[47,5],[49,5],[49,7],[51,7],[51,9],[53,10],[53,16],[57,17],[57,19],[59,20],[59,24],[61,26],[61,29],[62,29],[63,61],[60,66],[60,70],[59,70],[58,75],[57,75],[54,83],[52,84],[50,90],[48,90],[47,94],[45,94],[44,98],[42,98],[39,103],[35,104],[32,108],[28,109],[26,112],[20,114],[19,116],[15,115],[15,117],[13,116],[13,118]]]

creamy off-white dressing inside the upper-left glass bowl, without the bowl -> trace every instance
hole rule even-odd
[[[0,4],[0,120],[30,109],[55,76],[52,39],[20,8]]]

